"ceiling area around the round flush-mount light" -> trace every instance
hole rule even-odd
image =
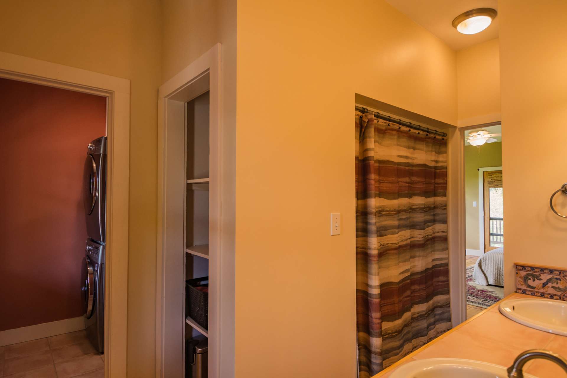
[[[498,0],[386,0],[391,6],[414,20],[451,49],[460,50],[498,38],[498,16],[480,33],[465,35],[452,27],[452,20],[471,9],[498,10]]]

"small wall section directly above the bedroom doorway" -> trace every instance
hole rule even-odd
[[[498,39],[457,52],[459,126],[500,121],[499,52]]]

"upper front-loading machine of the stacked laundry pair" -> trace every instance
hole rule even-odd
[[[106,171],[107,137],[88,143],[84,161],[84,211],[87,216],[87,236],[105,243],[106,231]]]

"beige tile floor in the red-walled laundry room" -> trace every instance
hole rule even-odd
[[[104,355],[82,331],[0,346],[2,378],[104,378]]]

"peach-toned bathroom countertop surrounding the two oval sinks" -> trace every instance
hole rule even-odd
[[[504,299],[534,298],[513,293]],[[567,337],[521,325],[498,311],[500,302],[464,321],[376,374],[386,378],[397,367],[425,358],[463,358],[479,360],[508,367],[518,354],[528,349],[547,349],[567,358]],[[540,378],[565,375],[556,364],[543,359],[532,360],[524,367],[525,373]]]

